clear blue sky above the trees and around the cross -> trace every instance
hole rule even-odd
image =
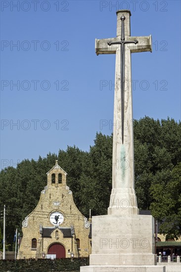
[[[115,55],[94,41],[116,36],[117,9],[131,10],[132,36],[152,35],[152,53],[132,54],[134,119],[181,119],[180,0],[0,3],[1,168],[112,133],[100,120],[113,122]]]

